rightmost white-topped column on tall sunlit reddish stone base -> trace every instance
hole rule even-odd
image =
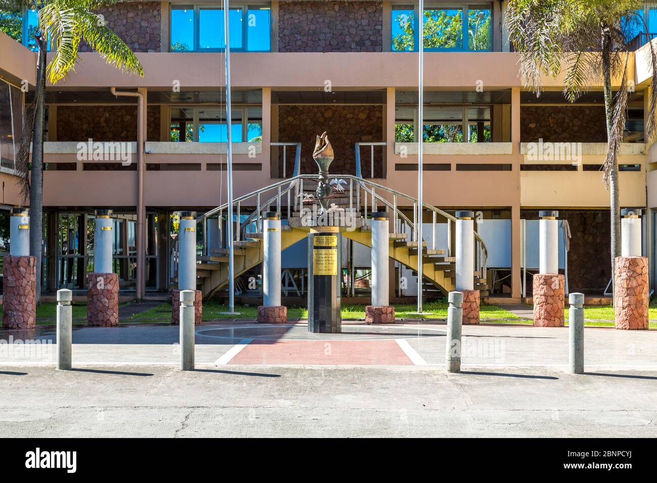
[[[648,259],[641,256],[641,210],[624,209],[621,256],[616,257],[614,325],[616,329],[648,329]]]

